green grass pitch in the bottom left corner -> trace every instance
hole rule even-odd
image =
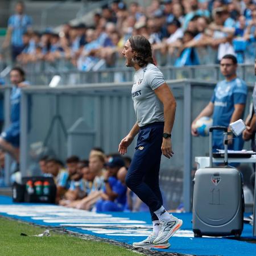
[[[0,255],[83,255],[83,256],[126,256],[139,255],[120,246],[104,242],[93,242],[59,234],[50,230],[50,237],[30,237],[43,233],[43,228],[9,220],[0,216]],[[28,236],[20,236],[25,233]]]

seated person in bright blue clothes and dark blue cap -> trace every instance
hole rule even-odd
[[[105,175],[105,188],[101,199],[96,203],[97,212],[121,212],[126,205],[125,177],[127,169],[122,158],[110,158],[107,163],[108,172]]]

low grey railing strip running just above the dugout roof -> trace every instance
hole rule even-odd
[[[159,67],[164,77],[172,79],[199,79],[204,81],[218,81],[224,79],[219,65],[198,65],[176,68],[173,66]],[[63,72],[36,72],[27,73],[27,80],[32,85],[48,85],[53,76],[61,77],[61,85],[79,85],[101,82],[126,82],[133,81],[134,69],[132,68],[109,68],[101,71],[81,72],[76,70]],[[254,66],[251,64],[238,65],[237,75],[246,82],[255,81]],[[6,84],[9,77],[6,76]]]

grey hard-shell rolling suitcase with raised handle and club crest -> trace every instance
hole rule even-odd
[[[224,167],[213,167],[212,131],[224,130]],[[201,236],[236,236],[243,230],[242,176],[228,166],[228,129],[210,127],[210,166],[195,173],[193,189],[193,232]]]

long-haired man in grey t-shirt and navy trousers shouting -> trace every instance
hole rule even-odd
[[[136,71],[131,96],[137,122],[120,142],[118,151],[125,154],[139,133],[126,185],[147,204],[153,222],[152,234],[133,246],[168,248],[168,240],[181,227],[182,220],[167,213],[163,207],[159,169],[161,155],[171,158],[174,154],[171,131],[176,102],[162,72],[154,65],[151,45],[144,36],[131,36],[122,54],[126,66]]]

